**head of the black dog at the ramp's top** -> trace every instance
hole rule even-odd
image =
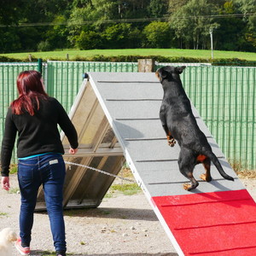
[[[166,66],[166,67],[160,67],[156,72],[157,78],[162,82],[164,79],[168,79],[170,81],[179,79],[179,75],[183,73],[183,69],[186,67],[172,67],[172,66]]]

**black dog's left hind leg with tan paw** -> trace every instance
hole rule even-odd
[[[178,158],[178,167],[179,171],[183,174],[184,177],[189,178],[190,184],[189,183],[184,183],[183,184],[183,189],[185,190],[192,190],[195,189],[199,183],[196,181],[195,177],[193,176],[193,171],[195,168],[195,163],[193,162],[193,155],[190,154],[189,150],[187,149],[182,149],[179,158]]]

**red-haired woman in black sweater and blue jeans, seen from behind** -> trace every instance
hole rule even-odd
[[[18,132],[18,180],[20,186],[20,239],[16,248],[30,253],[33,211],[38,188],[43,184],[56,255],[66,255],[62,189],[65,164],[58,126],[70,143],[70,154],[79,146],[77,132],[61,104],[44,91],[41,73],[24,71],[17,79],[19,97],[10,104],[2,142],[2,188],[9,190],[9,164]]]

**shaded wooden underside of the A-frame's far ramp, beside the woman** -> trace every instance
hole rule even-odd
[[[84,80],[69,113],[79,135],[79,152],[68,154],[67,137],[61,133],[65,148],[64,159],[91,166],[116,175],[125,162],[122,148],[99,104],[94,90]],[[67,166],[63,207],[98,207],[108,192],[114,177],[81,166]],[[36,211],[45,211],[44,191],[39,189]]]

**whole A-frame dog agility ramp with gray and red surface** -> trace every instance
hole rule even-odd
[[[224,180],[215,166],[211,166],[212,182],[201,181],[197,189],[188,192],[183,189],[187,180],[177,167],[179,147],[167,145],[160,124],[163,91],[154,73],[89,75],[90,79],[83,85],[71,112],[82,149],[78,157],[68,156],[68,160],[118,173],[125,156],[179,255],[254,255],[255,203],[195,108],[198,125],[224,171],[235,177],[235,181]],[[93,119],[95,121],[90,124]],[[90,139],[87,141],[85,137]],[[65,143],[65,137],[63,140]],[[105,161],[109,164],[104,165]],[[203,166],[195,167],[198,180],[202,172]],[[65,206],[68,201],[75,205],[79,198],[82,205],[93,201],[96,207],[113,182],[113,178],[82,169],[67,168],[67,177]]]

